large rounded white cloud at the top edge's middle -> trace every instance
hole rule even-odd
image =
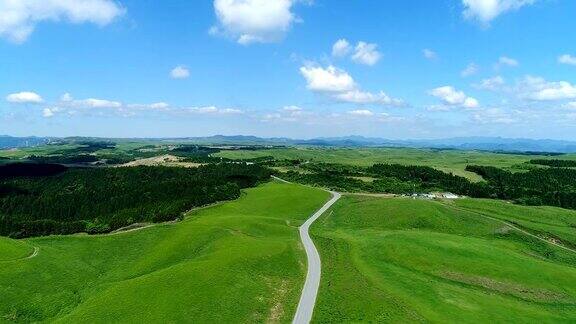
[[[238,43],[275,42],[285,35],[296,16],[292,7],[297,0],[214,0],[218,25],[212,34],[224,34]]]

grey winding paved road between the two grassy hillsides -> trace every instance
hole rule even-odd
[[[310,323],[312,313],[314,312],[316,295],[318,294],[318,287],[320,286],[320,255],[318,254],[318,250],[316,250],[316,246],[314,246],[312,238],[310,238],[310,234],[308,234],[308,230],[310,229],[310,225],[341,197],[337,192],[330,191],[330,193],[332,194],[332,199],[300,226],[300,238],[302,239],[302,244],[304,244],[308,258],[308,273],[306,274],[306,282],[302,289],[296,315],[294,315],[294,320],[292,321],[294,324]]]

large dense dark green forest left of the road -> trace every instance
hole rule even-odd
[[[236,199],[240,189],[269,176],[266,168],[245,163],[199,168],[1,166],[0,235],[106,233],[139,222],[176,220],[191,208]]]

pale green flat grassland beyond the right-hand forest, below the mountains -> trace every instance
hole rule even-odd
[[[249,159],[273,156],[276,159],[302,159],[315,162],[341,163],[359,166],[371,166],[375,163],[399,163],[404,165],[423,165],[444,172],[467,177],[478,181],[475,173],[465,171],[469,164],[488,165],[506,170],[521,169],[522,163],[541,156],[498,154],[479,151],[431,150],[411,148],[281,148],[269,150],[222,151],[216,156],[231,159]],[[556,157],[558,158],[558,157]],[[576,155],[565,155],[562,159],[576,159]],[[534,166],[530,166],[534,167]]]

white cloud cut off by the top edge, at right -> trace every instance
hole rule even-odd
[[[464,17],[477,20],[486,26],[501,14],[518,10],[534,2],[536,0],[462,0]]]

